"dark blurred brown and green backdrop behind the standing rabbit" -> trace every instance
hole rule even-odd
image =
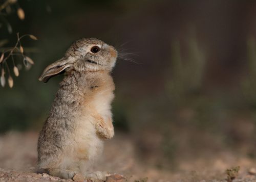
[[[129,59],[118,60],[112,73],[117,135],[106,144],[110,153],[134,153],[120,159],[119,166],[130,165],[123,171],[146,166],[151,172],[142,176],[157,176],[159,171],[191,171],[199,163],[201,168],[209,163],[221,170],[241,160],[245,166],[253,164],[255,1],[23,0],[10,7],[9,13],[1,10],[0,39],[7,40],[1,50],[15,45],[17,32],[38,40],[23,38],[24,54],[34,65],[27,70],[23,59],[15,57],[18,77],[12,60],[6,60],[14,85],[0,88],[2,143],[9,143],[7,139],[24,143],[27,137],[36,146],[63,77],[43,84],[39,75],[73,41],[97,37]],[[17,15],[19,8],[25,18]],[[5,146],[2,150],[10,153]],[[31,155],[35,160],[36,152]],[[13,155],[6,156],[0,155],[2,165],[12,168]]]

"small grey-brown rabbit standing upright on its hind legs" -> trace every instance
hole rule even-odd
[[[65,56],[39,77],[48,80],[65,73],[38,139],[38,172],[60,178],[103,179],[89,173],[103,150],[104,139],[114,137],[111,102],[115,85],[110,75],[116,49],[95,38],[74,42]]]

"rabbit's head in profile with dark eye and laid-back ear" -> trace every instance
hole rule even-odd
[[[75,70],[111,71],[117,58],[116,49],[96,38],[83,38],[75,41],[67,50],[65,57],[46,67],[39,77],[45,83],[53,76]]]

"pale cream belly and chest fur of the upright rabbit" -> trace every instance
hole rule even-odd
[[[95,109],[104,120],[112,118],[111,101],[114,98],[113,87],[102,89],[94,95],[91,102],[87,103],[89,108]],[[84,113],[77,121],[77,132],[75,133],[73,144],[70,143],[66,150],[62,167],[77,169],[86,172],[90,163],[97,160],[103,150],[103,140],[96,135],[94,128],[95,117],[88,107],[84,108]]]

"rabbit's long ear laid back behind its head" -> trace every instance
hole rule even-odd
[[[71,61],[69,58],[61,58],[60,60],[47,66],[38,80],[47,83],[51,77],[62,73],[62,71],[65,71],[65,69],[70,67],[73,67],[73,61]]]

